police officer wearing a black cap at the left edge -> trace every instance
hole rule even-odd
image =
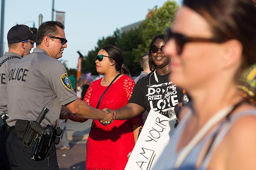
[[[0,169],[9,169],[6,153],[6,119],[8,118],[6,88],[9,72],[14,63],[29,54],[34,47],[36,35],[26,25],[13,26],[7,34],[8,52],[0,58]]]

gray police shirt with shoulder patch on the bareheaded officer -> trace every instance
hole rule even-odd
[[[7,124],[15,126],[18,119],[36,120],[47,107],[41,125],[58,126],[61,105],[78,99],[65,66],[46,51],[35,48],[32,54],[17,62],[8,77]]]

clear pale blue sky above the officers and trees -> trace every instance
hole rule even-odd
[[[148,10],[163,6],[167,0],[54,0],[54,9],[65,12],[67,48],[61,59],[68,68],[76,68],[78,53],[87,55],[97,40],[112,35],[116,29],[144,20]],[[181,5],[181,0],[176,0]],[[7,33],[15,24],[39,26],[52,20],[52,0],[5,0],[4,51],[8,51]],[[54,13],[55,20],[55,13]],[[33,50],[33,49],[32,49]]]

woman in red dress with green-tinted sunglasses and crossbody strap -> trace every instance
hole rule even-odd
[[[114,110],[125,106],[135,83],[127,76],[129,70],[123,65],[121,50],[108,45],[98,52],[95,60],[97,72],[104,77],[89,86],[83,100],[96,108],[109,84],[121,73],[103,95],[99,109],[107,107]],[[87,140],[86,169],[124,169],[128,161],[127,155],[133,150],[142,121],[142,115],[130,120],[115,120],[113,123],[107,123],[108,126],[102,125],[99,120],[93,120]]]

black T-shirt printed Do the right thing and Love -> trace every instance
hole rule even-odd
[[[135,103],[146,109],[159,112],[167,117],[168,111],[182,102],[183,93],[176,84],[168,80],[168,75],[157,75],[159,82],[155,80],[154,72],[139,79],[135,84],[129,103]]]

